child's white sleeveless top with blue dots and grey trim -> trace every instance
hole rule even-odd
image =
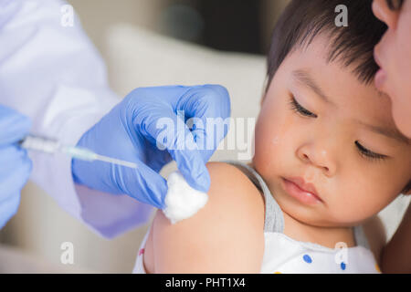
[[[374,255],[369,249],[361,225],[353,227],[356,242],[356,246],[353,247],[329,248],[294,240],[284,235],[282,211],[258,172],[241,162],[226,162],[244,172],[264,196],[266,210],[264,221],[265,244],[260,273],[381,273]],[[143,266],[143,255],[149,231],[144,235],[140,245],[133,273],[146,273]]]

